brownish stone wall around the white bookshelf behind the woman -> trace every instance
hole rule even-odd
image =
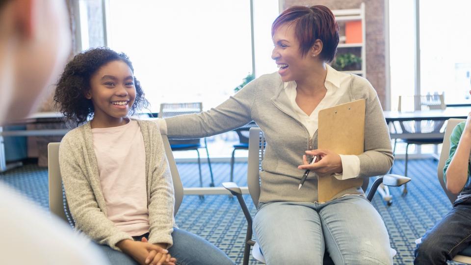
[[[385,106],[386,73],[384,48],[384,1],[383,0],[284,0],[283,8],[293,5],[325,5],[330,9],[359,8],[365,2],[366,21],[366,78],[378,93]]]

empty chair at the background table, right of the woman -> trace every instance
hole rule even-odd
[[[415,106],[419,105],[421,110],[432,110],[432,109],[445,109],[445,97],[444,94],[436,95],[414,95],[414,96],[399,96],[397,111],[404,111],[403,106]],[[396,132],[408,132],[408,133],[440,133],[445,121],[398,121],[393,124]],[[397,126],[398,124],[398,126]],[[392,155],[396,151],[397,141],[406,144],[406,157],[404,161],[404,176],[407,176],[407,162],[409,160],[409,145],[422,145],[422,144],[441,144],[443,138],[423,138],[423,139],[394,139],[394,147],[392,148]],[[403,194],[407,194],[407,185],[404,185]]]

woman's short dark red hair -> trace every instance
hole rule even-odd
[[[319,56],[326,62],[331,62],[339,45],[339,25],[329,8],[323,5],[311,7],[295,5],[283,11],[271,26],[271,35],[278,27],[293,23],[294,34],[299,41],[301,53],[306,55],[313,47],[315,40],[322,41],[322,51]]]

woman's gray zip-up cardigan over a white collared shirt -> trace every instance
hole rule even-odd
[[[376,91],[364,78],[352,75],[348,93],[339,104],[358,99],[366,100],[365,152],[359,155],[360,178],[383,175],[392,166],[391,138]],[[317,132],[312,138],[296,118],[284,92],[278,73],[253,80],[216,108],[199,114],[166,118],[170,138],[199,138],[234,130],[255,121],[265,134],[267,146],[260,172],[260,202],[317,201],[317,176],[310,175],[303,188],[298,185],[304,170],[306,150],[317,148]],[[360,187],[344,190],[334,196],[364,194]]]

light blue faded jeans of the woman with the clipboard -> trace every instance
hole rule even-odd
[[[325,250],[336,265],[392,264],[386,226],[363,196],[324,204],[261,203],[254,230],[270,265],[322,264]]]

